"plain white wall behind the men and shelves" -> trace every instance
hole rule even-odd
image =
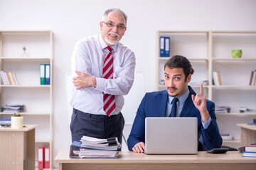
[[[256,30],[254,0],[0,0],[0,30],[53,30],[53,157],[71,142],[65,75],[73,47],[100,33],[102,14],[113,7],[127,13],[121,42],[135,52],[144,91],[156,89],[156,30]]]

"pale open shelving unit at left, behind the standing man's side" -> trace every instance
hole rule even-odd
[[[26,47],[26,56],[23,55]],[[53,33],[40,31],[0,31],[0,67],[14,72],[18,85],[0,85],[0,104],[23,104],[26,111],[24,124],[37,124],[37,148],[50,147],[52,156],[53,115]],[[40,84],[40,64],[50,64],[50,85]],[[11,118],[14,113],[1,112],[1,118]],[[51,166],[50,166],[51,168]]]

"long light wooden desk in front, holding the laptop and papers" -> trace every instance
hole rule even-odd
[[[134,152],[119,152],[119,159],[71,159],[69,151],[60,151],[54,159],[59,170],[68,169],[255,169],[256,158],[242,157],[238,151],[226,154],[166,154],[147,155]]]

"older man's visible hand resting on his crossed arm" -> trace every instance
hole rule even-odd
[[[77,90],[91,86],[96,87],[97,83],[95,77],[90,77],[88,74],[83,72],[75,71],[75,73],[79,75],[78,77],[73,77],[73,84],[76,86]]]

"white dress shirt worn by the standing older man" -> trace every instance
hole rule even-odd
[[[71,59],[73,77],[78,74],[75,71],[84,72],[90,77],[95,77],[96,87],[75,89],[73,86],[70,98],[70,106],[91,114],[106,115],[103,111],[103,93],[115,96],[116,108],[111,115],[117,115],[124,106],[124,97],[128,94],[134,82],[135,55],[122,43],[112,46],[114,60],[113,79],[102,78],[103,63],[107,56],[107,44],[102,35],[92,35],[79,40]]]

